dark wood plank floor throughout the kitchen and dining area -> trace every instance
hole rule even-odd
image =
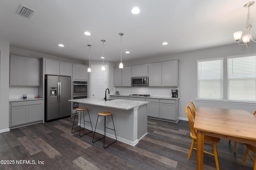
[[[117,141],[104,149],[102,140],[92,143],[93,133],[82,137],[79,132],[71,133],[73,119],[68,117],[0,133],[0,160],[8,163],[1,162],[0,169],[196,169],[196,150],[187,159],[192,141],[188,121],[170,123],[148,119],[148,135],[135,147]],[[249,158],[246,166],[242,166],[244,144],[238,143],[236,154],[234,141],[228,144],[221,139],[217,148],[220,170],[253,169]],[[212,147],[205,145],[205,150],[212,152]],[[214,156],[204,154],[204,169],[216,169]]]

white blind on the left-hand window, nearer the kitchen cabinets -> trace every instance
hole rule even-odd
[[[223,100],[223,59],[197,62],[197,97]]]

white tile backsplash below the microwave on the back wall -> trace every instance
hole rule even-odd
[[[114,94],[150,94],[150,96],[172,96],[172,89],[178,88],[157,88],[157,87],[114,87]]]

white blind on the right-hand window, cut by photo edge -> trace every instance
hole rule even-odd
[[[256,101],[256,56],[228,58],[228,100]]]

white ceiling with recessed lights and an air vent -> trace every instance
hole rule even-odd
[[[248,0],[1,0],[0,37],[10,45],[77,61],[105,61],[171,55],[235,44],[243,31]],[[36,10],[27,19],[16,14],[20,4]],[[140,14],[130,10],[138,6]],[[256,4],[251,6],[256,24]],[[91,35],[84,35],[90,31]],[[256,31],[252,31],[256,37]],[[168,45],[162,45],[166,41]],[[58,47],[62,43],[64,47]],[[250,47],[255,47],[252,43]],[[250,48],[249,47],[249,48]],[[246,48],[246,47],[244,47]],[[130,54],[125,54],[130,51]]]

